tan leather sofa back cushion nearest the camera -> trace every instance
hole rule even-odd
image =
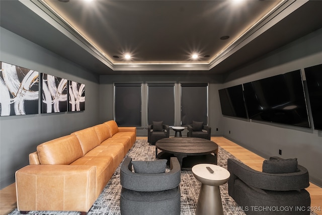
[[[40,164],[68,165],[83,157],[82,147],[75,135],[62,136],[37,146]]]

